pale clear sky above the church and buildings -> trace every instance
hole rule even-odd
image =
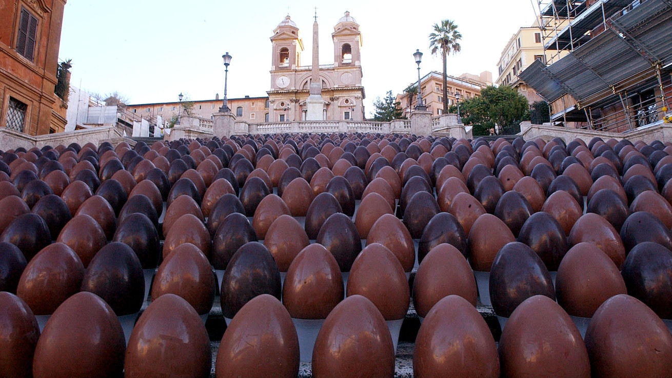
[[[534,3],[534,7],[533,7]],[[289,13],[300,29],[302,64],[310,64],[312,22],[317,7],[320,64],[333,63],[331,33],[349,11],[362,31],[362,83],[367,117],[376,97],[401,93],[417,81],[413,52],[424,53],[421,75],[442,71],[431,56],[434,23],[452,19],[462,33],[462,52],[448,58],[448,75],[480,74],[497,79],[497,61],[518,28],[532,25],[536,0],[472,1],[81,1],[65,6],[61,60],[72,59],[71,85],[104,95],[118,91],[129,103],[192,100],[224,94],[222,54],[233,56],[228,97],[266,96],[270,89],[271,42]]]

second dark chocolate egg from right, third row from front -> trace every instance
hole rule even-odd
[[[562,226],[544,211],[532,214],[526,220],[520,229],[518,241],[530,246],[542,259],[548,271],[557,271],[562,257],[569,250]]]

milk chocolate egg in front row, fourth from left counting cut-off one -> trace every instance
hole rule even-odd
[[[241,340],[247,346],[240,347]],[[217,351],[217,378],[296,377],[299,368],[298,336],[282,303],[259,295],[233,318]]]

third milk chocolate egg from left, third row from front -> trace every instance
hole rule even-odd
[[[281,272],[289,269],[294,257],[309,243],[310,240],[301,225],[288,215],[278,217],[268,228],[266,238],[263,240],[264,246],[276,259]]]

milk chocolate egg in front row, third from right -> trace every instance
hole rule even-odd
[[[432,308],[415,339],[413,375],[499,377],[495,340],[471,303],[449,295]]]

